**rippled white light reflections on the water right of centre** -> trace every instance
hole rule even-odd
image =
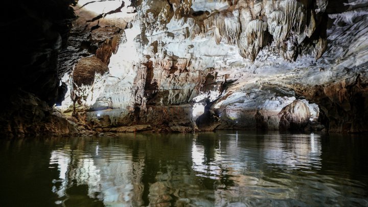
[[[239,143],[244,143],[244,139],[247,139],[247,137],[240,136],[238,131],[233,137],[234,139],[228,140],[225,144],[218,140],[218,148],[213,146],[215,148],[213,155],[208,154],[209,151],[205,150],[205,146],[199,144],[198,139],[193,141],[192,160],[196,175],[217,180],[213,204],[215,206],[229,205],[229,201],[232,201],[233,205],[255,205],[263,203],[263,199],[295,198],[295,190],[287,187],[288,180],[265,180],[262,172],[265,169],[260,169],[257,163],[276,164],[285,170],[306,171],[321,167],[319,135],[310,137],[298,135],[294,138],[282,135],[264,136],[260,154],[254,154],[254,150],[245,150],[241,145],[238,147]],[[206,162],[206,157],[211,156],[213,160]],[[315,184],[311,183],[311,185]],[[243,198],[245,195],[254,199],[246,200]],[[277,205],[286,204],[276,203]]]

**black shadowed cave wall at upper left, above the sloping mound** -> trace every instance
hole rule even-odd
[[[6,96],[18,89],[53,105],[64,91],[59,87],[58,51],[67,45],[68,32],[76,18],[75,1],[7,2],[2,18],[4,60],[1,70]],[[13,60],[13,61],[9,61]],[[16,60],[16,61],[14,61]]]

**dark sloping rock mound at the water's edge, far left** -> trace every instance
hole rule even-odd
[[[3,136],[79,135],[77,121],[68,120],[31,93],[18,90],[9,98],[8,109],[0,118]],[[9,119],[12,117],[12,119]]]

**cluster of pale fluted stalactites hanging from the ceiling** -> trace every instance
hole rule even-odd
[[[167,4],[163,0],[158,0],[159,6],[149,1],[148,6],[143,6],[141,9],[146,18],[145,32],[165,30],[166,24],[160,22],[169,22],[171,16],[169,13],[174,13],[173,16],[178,21],[178,25],[189,29],[190,35],[185,35],[186,37],[194,39],[212,34],[217,44],[221,41],[232,45],[237,43],[240,45],[240,55],[251,60],[255,60],[260,49],[267,43],[268,39],[265,39],[266,42],[263,40],[264,35],[268,37],[268,33],[272,35],[277,49],[281,53],[288,53],[281,54],[282,56],[287,60],[295,59],[295,54],[298,52],[290,50],[297,49],[306,37],[312,36],[318,27],[315,20],[316,13],[324,11],[328,2],[317,0],[312,4],[311,1],[295,0],[239,0],[228,1],[228,7],[219,10],[193,13],[190,9],[192,1],[169,0]],[[169,6],[172,8],[171,12]],[[320,11],[317,11],[318,9]],[[266,21],[268,33],[260,29],[263,24],[255,20]],[[318,57],[319,51],[324,50],[315,51]]]

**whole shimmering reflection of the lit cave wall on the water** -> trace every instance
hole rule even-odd
[[[261,205],[267,200],[304,205],[309,203],[304,195],[320,191],[332,199],[341,196],[330,176],[311,176],[321,169],[318,134],[142,136],[53,150],[50,165],[59,170],[53,192],[60,202],[72,199],[67,191],[72,186],[87,186],[90,198],[120,206]]]

